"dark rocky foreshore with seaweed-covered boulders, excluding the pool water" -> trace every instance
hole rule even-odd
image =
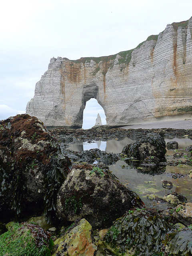
[[[126,137],[134,142],[118,154],[67,149],[76,141]],[[164,198],[149,195],[170,207],[148,208],[108,167],[119,159],[146,172],[167,164],[191,166],[190,147],[185,160],[179,152],[167,158],[164,138],[175,137],[192,138],[192,130],[51,131],[28,114],[0,121],[0,256],[192,255],[191,202],[170,191]],[[167,181],[163,186],[172,188]]]

